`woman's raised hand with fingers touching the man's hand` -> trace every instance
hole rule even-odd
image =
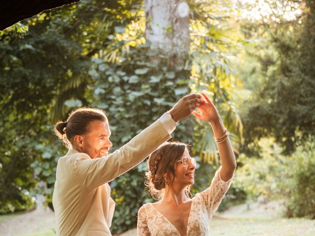
[[[204,94],[203,92],[202,94],[202,102],[200,104],[200,106],[197,107],[197,109],[199,109],[200,113],[193,111],[192,114],[200,119],[200,120],[204,120],[207,122],[216,122],[219,121],[221,119],[219,112],[217,110],[217,108],[215,107],[215,105],[211,102],[210,98]]]

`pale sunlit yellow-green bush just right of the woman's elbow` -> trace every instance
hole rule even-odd
[[[281,155],[280,148],[272,139],[258,142],[260,156],[241,154],[238,162],[242,166],[235,172],[234,187],[246,192],[249,199],[277,199],[284,195],[283,181],[288,176],[288,158]]]

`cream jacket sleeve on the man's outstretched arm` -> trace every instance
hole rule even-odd
[[[163,124],[157,120],[108,156],[91,159],[85,153],[78,153],[72,161],[74,172],[82,178],[83,185],[95,188],[138,165],[170,138]]]

